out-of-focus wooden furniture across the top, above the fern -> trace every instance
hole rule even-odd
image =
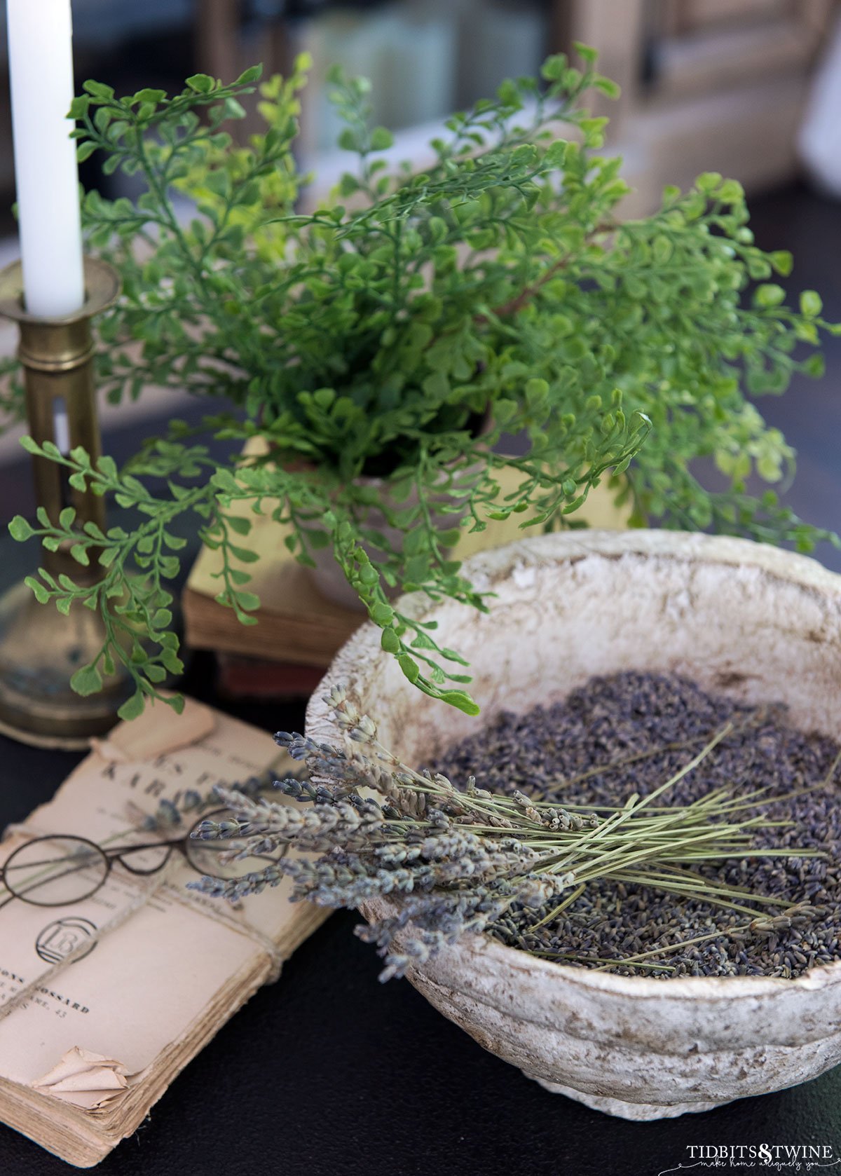
[[[612,147],[636,188],[633,214],[665,183],[689,183],[700,171],[753,192],[797,174],[799,131],[836,8],[836,0],[73,0],[74,54],[79,86],[96,78],[126,93],[180,88],[194,72],[227,81],[256,61],[266,75],[285,73],[308,51],[301,154],[323,172],[338,133],[325,87],[334,61],[371,79],[376,121],[401,132],[403,154],[421,165],[430,125],[585,41],[622,86],[599,113],[610,114]],[[6,211],[5,83],[0,189]]]

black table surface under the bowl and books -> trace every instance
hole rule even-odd
[[[834,283],[829,313],[841,318],[841,209],[792,189],[760,202],[756,213],[761,243],[790,247],[801,261],[799,287],[830,294]],[[841,340],[834,342],[822,386],[797,388],[762,407],[800,449],[800,477],[789,496],[795,509],[839,529]],[[121,440],[108,446],[118,457]],[[0,472],[5,515],[27,510],[27,485],[22,468]],[[820,554],[840,567],[837,553]],[[8,543],[0,541],[0,587],[18,574],[15,563],[21,575],[25,570],[20,555],[9,556]],[[194,660],[186,689],[218,701],[205,657]],[[273,730],[300,727],[303,708],[241,706],[235,713]],[[0,826],[49,797],[78,760],[0,737]],[[378,984],[379,961],[352,934],[353,923],[354,916],[340,914],[320,928],[279,982],[236,1014],[98,1170],[104,1176],[656,1176],[690,1167],[689,1145],[825,1144],[841,1155],[841,1068],[702,1115],[658,1123],[609,1118],[547,1094],[485,1053],[406,981]],[[0,1125],[0,1176],[67,1170]]]

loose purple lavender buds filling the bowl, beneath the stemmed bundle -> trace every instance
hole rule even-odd
[[[756,917],[705,901],[694,882],[680,896],[614,876],[589,883],[554,916],[546,910],[542,918],[523,920],[508,913],[489,934],[542,958],[623,975],[645,969],[662,977],[787,978],[841,958],[840,749],[792,728],[782,707],[749,708],[686,679],[625,673],[593,679],[550,708],[502,715],[452,749],[446,764],[456,776],[475,773],[490,789],[521,789],[600,810],[625,803],[630,793],[647,796],[725,723],[733,724],[732,733],[662,803],[689,804],[719,788],[736,796],[766,789],[766,821],[788,824],[767,823],[753,841],[775,856],[700,863],[693,870],[705,887],[770,896],[785,909]],[[793,856],[779,856],[786,849]],[[801,856],[803,850],[814,856]],[[752,903],[736,898],[735,906]]]

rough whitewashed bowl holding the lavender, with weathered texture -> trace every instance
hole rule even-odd
[[[490,613],[411,597],[470,661],[479,719],[422,697],[365,626],[313,697],[307,730],[335,734],[321,700],[346,683],[382,742],[415,764],[490,722],[550,703],[593,674],[674,671],[841,736],[841,576],[743,540],[579,532],[513,543],[466,566]],[[372,904],[371,914],[380,914]],[[796,980],[623,977],[532,958],[472,936],[409,974],[445,1016],[548,1090],[626,1118],[707,1110],[841,1062],[841,963]]]

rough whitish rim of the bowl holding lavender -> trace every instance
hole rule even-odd
[[[686,532],[581,530],[540,535],[481,552],[465,562],[462,574],[475,584],[481,584],[482,581],[499,580],[501,575],[513,572],[523,562],[565,562],[585,559],[588,555],[614,557],[623,554],[667,557],[687,563],[699,561],[733,566],[748,563],[762,568],[777,579],[788,580],[805,588],[814,588],[821,595],[837,596],[841,601],[841,575],[828,572],[816,560],[750,540]],[[422,619],[432,615],[435,606],[420,594],[413,594],[401,599],[401,609]],[[323,695],[334,686],[347,684],[361,661],[373,662],[391,656],[380,647],[380,632],[375,624],[366,622],[339,650],[307,706],[307,734],[322,740],[335,737],[338,728],[329,717]],[[440,706],[446,703],[442,702]],[[481,722],[481,719],[479,721]],[[396,908],[399,904],[389,901],[383,906]],[[483,962],[495,961],[507,970],[527,970],[532,976],[542,975],[547,980],[562,976],[568,984],[590,991],[612,993],[634,1001],[703,998],[705,1003],[721,1001],[732,1007],[733,1001],[779,995],[781,989],[788,993],[795,990],[806,993],[841,983],[841,961],[810,968],[792,980],[775,976],[674,976],[655,980],[650,976],[618,976],[607,971],[554,963],[518,948],[509,948],[486,935],[462,936],[455,949],[473,957],[485,956]]]

